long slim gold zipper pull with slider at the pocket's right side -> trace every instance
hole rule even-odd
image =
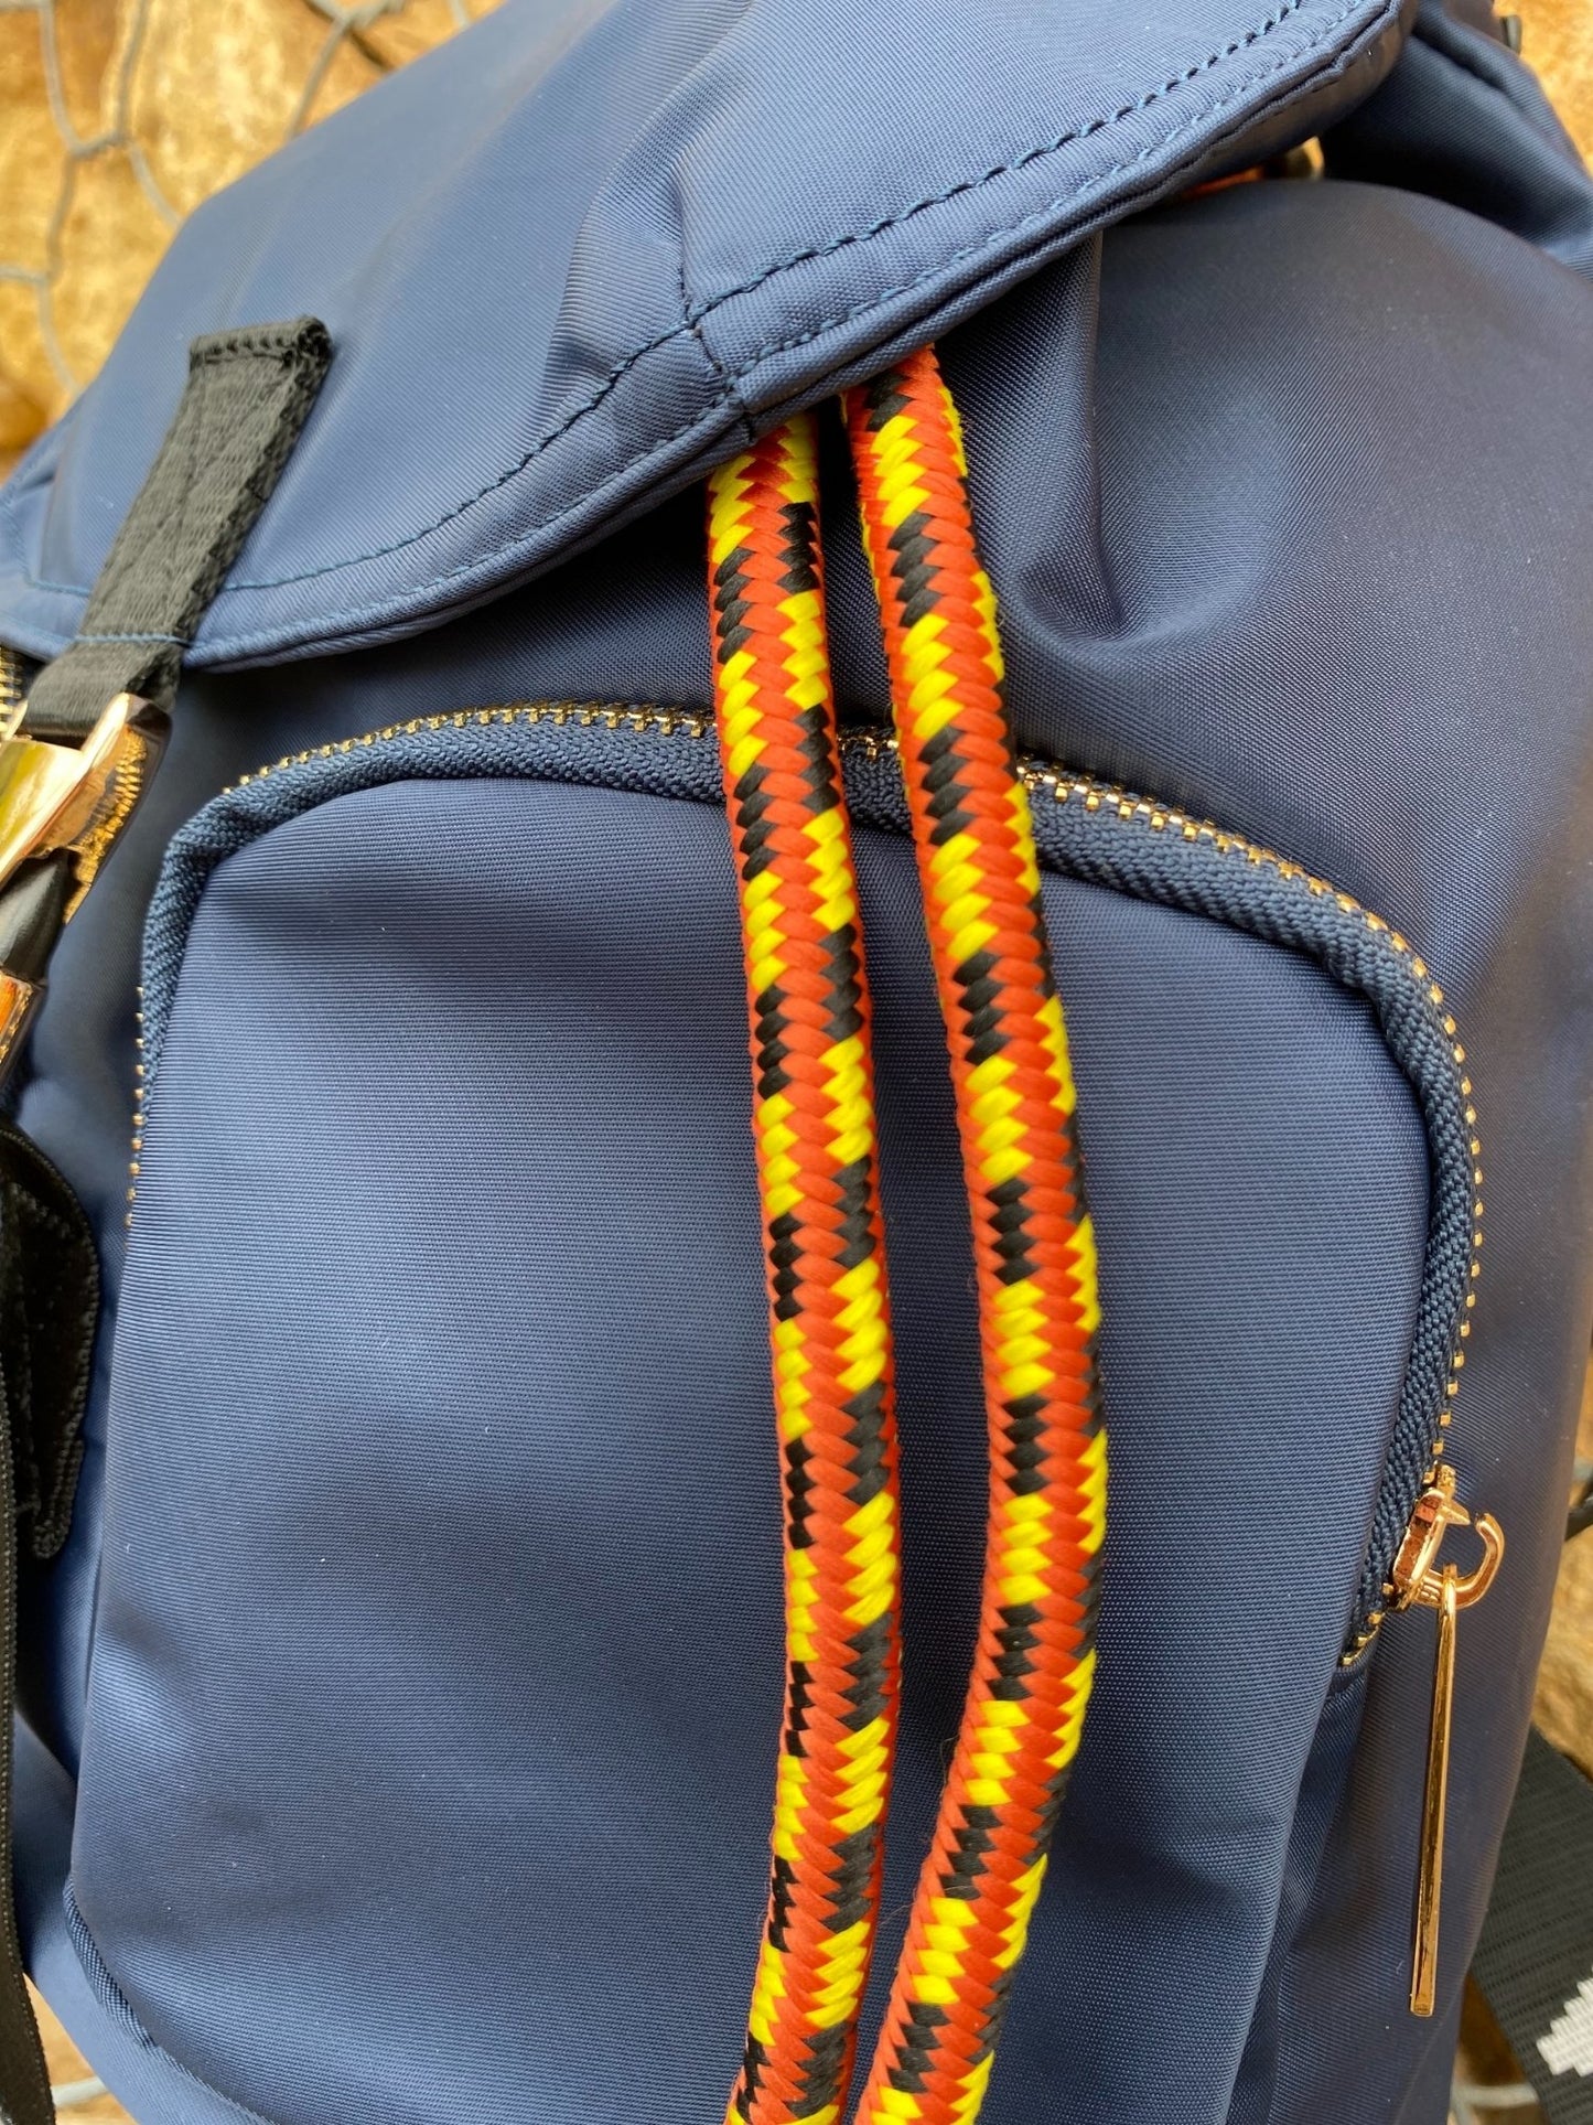
[[[1438,1564],[1451,1528],[1470,1528],[1483,1543],[1474,1572]],[[1504,1530],[1491,1513],[1476,1519],[1455,1496],[1455,1470],[1440,1466],[1417,1498],[1410,1526],[1393,1560],[1393,1609],[1436,1609],[1432,1717],[1427,1723],[1427,1783],[1421,1802],[1421,1862],[1417,1872],[1417,1938],[1410,1964],[1410,2012],[1432,2014],[1438,1998],[1438,1908],[1444,1887],[1444,1802],[1449,1798],[1449,1736],[1455,1717],[1455,1619],[1483,1600],[1504,1558]]]

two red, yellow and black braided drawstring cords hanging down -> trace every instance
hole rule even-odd
[[[852,391],[845,419],[952,1058],[990,1436],[973,1674],[856,2121],[971,2125],[1094,1670],[1107,1492],[1094,1368],[1100,1309],[1039,861],[1000,699],[996,604],[973,542],[956,408],[932,351]],[[769,1921],[731,2119],[830,2125],[845,2106],[877,1915],[901,1570],[869,1005],[824,654],[811,425],[792,423],[716,474],[709,514],[786,1468],[788,1719]],[[805,884],[820,876],[822,888]],[[818,912],[796,918],[799,903]],[[801,1092],[788,1033],[796,997],[803,1071],[813,1073]],[[845,1065],[826,1060],[839,1050]],[[845,1177],[841,1137],[852,1154]],[[837,1313],[839,1279],[807,1271],[809,1256],[845,1260],[845,1275],[860,1266],[867,1305],[843,1303]],[[854,1375],[830,1381],[824,1368],[837,1320],[864,1313],[877,1337],[867,1424],[854,1400],[839,1400]],[[813,1379],[824,1381],[818,1396]],[[824,1468],[839,1498],[820,1504],[816,1441],[794,1428],[796,1417],[835,1441]],[[847,1454],[864,1454],[875,1470],[867,1498],[845,1481]],[[867,1530],[864,1511],[877,1515]],[[843,1530],[822,1556],[820,1517]],[[867,1551],[871,1598],[860,1602],[847,1570],[856,1575],[864,1534],[877,1547]],[[826,1630],[816,1630],[818,1617]],[[847,1730],[847,1742],[828,1726],[820,1734],[809,1704],[871,1717]],[[858,1785],[839,1772],[864,1755],[867,1819],[845,1806]]]

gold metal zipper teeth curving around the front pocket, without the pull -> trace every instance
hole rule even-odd
[[[21,697],[21,663],[13,650],[0,644],[0,706],[6,701],[6,684],[17,688],[17,699]],[[370,752],[376,746],[391,744],[399,737],[418,737],[425,731],[467,731],[467,729],[491,729],[493,725],[514,725],[514,722],[554,722],[567,725],[580,731],[629,731],[650,737],[688,737],[707,740],[714,735],[714,718],[705,710],[692,708],[663,708],[658,703],[635,703],[635,701],[510,701],[491,708],[459,708],[448,710],[438,716],[412,716],[408,722],[389,722],[378,731],[367,731],[363,737],[342,737],[325,746],[310,746],[304,752],[289,752],[280,761],[268,767],[257,767],[253,774],[238,776],[229,784],[229,790],[240,790],[251,784],[263,782],[270,776],[285,774],[289,767],[308,767],[312,761],[329,761],[340,754]],[[843,752],[856,754],[864,761],[881,761],[894,756],[901,746],[894,731],[881,727],[850,727],[841,731]],[[1192,818],[1187,812],[1179,812],[1175,805],[1151,803],[1145,797],[1136,797],[1132,790],[1121,788],[1113,782],[1098,782],[1092,776],[1070,776],[1062,769],[1049,765],[1047,761],[1024,759],[1020,761],[1020,776],[1024,786],[1030,790],[1043,790],[1054,803],[1077,803],[1085,812],[1100,812],[1107,818],[1117,818],[1124,824],[1136,824],[1149,829],[1151,833],[1168,833],[1175,839],[1198,844],[1226,856],[1234,863],[1247,863],[1257,869],[1268,869],[1281,880],[1300,882],[1313,899],[1332,899],[1340,914],[1351,916],[1383,939],[1400,958],[1406,960],[1415,980],[1419,980],[1427,992],[1427,1001],[1442,1018],[1444,1037],[1451,1043],[1451,1054],[1461,1071],[1459,1090],[1466,1101],[1466,1126],[1470,1130],[1468,1148],[1472,1156],[1472,1260],[1470,1260],[1470,1281],[1476,1284],[1483,1273],[1478,1260],[1483,1252],[1483,1145],[1476,1137],[1476,1109],[1472,1105],[1472,1080],[1466,1075],[1466,1048],[1459,1041],[1459,1026],[1455,1024],[1444,990],[1432,975],[1421,954],[1410,946],[1406,937],[1400,935],[1383,916],[1372,914],[1353,895],[1340,892],[1338,886],[1330,884],[1325,878],[1317,878],[1300,863],[1291,863],[1287,856],[1279,856],[1274,850],[1264,848],[1260,842],[1249,842],[1240,833],[1230,833],[1226,827],[1215,827],[1211,820]],[[149,1080],[144,1073],[144,992],[138,990],[138,1026],[136,1026],[136,1107],[134,1107],[134,1139],[132,1139],[132,1167],[127,1186],[127,1222],[132,1224],[132,1205],[138,1194],[138,1171],[140,1156],[144,1148],[144,1120],[147,1120],[147,1088]],[[1476,1292],[1466,1292],[1466,1313],[1468,1318],[1459,1324],[1459,1343],[1449,1364],[1449,1379],[1444,1383],[1444,1407],[1438,1415],[1438,1439],[1432,1441],[1432,1462],[1434,1466],[1444,1454],[1444,1432],[1451,1422],[1451,1402],[1459,1394],[1459,1375],[1466,1366],[1463,1343],[1472,1334],[1470,1313],[1476,1307]],[[1432,1468],[1425,1481],[1432,1481]],[[1393,1594],[1391,1585],[1385,1585],[1385,1596]],[[1366,1647],[1376,1636],[1387,1611],[1374,1609],[1366,1617],[1366,1626],[1355,1634],[1349,1649],[1344,1651],[1340,1664],[1353,1666]]]

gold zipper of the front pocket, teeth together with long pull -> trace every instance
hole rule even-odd
[[[0,682],[4,672],[0,667]],[[461,708],[438,716],[412,716],[406,722],[391,722],[378,731],[367,731],[361,737],[344,737],[325,746],[312,746],[304,752],[285,754],[268,767],[259,767],[253,774],[240,776],[232,790],[246,788],[251,784],[263,782],[270,776],[282,774],[289,767],[306,767],[312,761],[338,759],[340,754],[370,752],[376,746],[391,744],[399,737],[416,737],[425,731],[465,731],[472,727],[491,725],[516,725],[516,722],[552,722],[573,729],[603,729],[603,731],[627,731],[639,735],[658,737],[690,737],[707,740],[714,733],[714,718],[701,710],[686,708],[661,708],[652,703],[629,703],[629,701],[514,701],[495,708]],[[858,754],[869,761],[886,759],[898,750],[894,731],[881,727],[852,727],[841,733],[841,744],[845,752]],[[1211,848],[1219,856],[1228,856],[1234,863],[1245,863],[1253,867],[1264,867],[1274,871],[1281,880],[1300,880],[1313,899],[1332,899],[1340,914],[1364,922],[1368,931],[1385,939],[1393,952],[1400,954],[1410,967],[1410,973],[1425,986],[1427,1001],[1440,1014],[1440,1022],[1446,1039],[1451,1041],[1451,1054],[1455,1065],[1461,1069],[1461,1096],[1466,1099],[1466,1126],[1470,1135],[1470,1156],[1472,1156],[1472,1260],[1470,1260],[1470,1281],[1476,1284],[1480,1275],[1480,1250],[1483,1250],[1483,1169],[1478,1164],[1483,1145],[1476,1137],[1476,1109],[1472,1107],[1472,1082],[1466,1071],[1466,1050],[1459,1043],[1459,1028],[1451,1016],[1444,992],[1434,980],[1432,971],[1423,963],[1421,954],[1391,929],[1383,916],[1372,914],[1361,907],[1357,899],[1349,892],[1340,892],[1325,878],[1315,878],[1300,863],[1291,863],[1285,856],[1274,854],[1270,848],[1257,842],[1245,839],[1245,835],[1230,833],[1223,827],[1213,827],[1211,820],[1192,818],[1179,812],[1175,805],[1158,805],[1143,797],[1109,784],[1098,782],[1090,776],[1068,776],[1045,761],[1024,761],[1020,763],[1020,774],[1026,788],[1034,797],[1049,797],[1054,803],[1066,805],[1077,803],[1085,812],[1107,812],[1126,822],[1134,822],[1149,833],[1166,833],[1181,842],[1200,844]],[[134,1114],[134,1158],[130,1171],[127,1188],[127,1218],[132,1222],[132,1203],[138,1188],[138,1160],[144,1143],[144,1120],[147,1120],[147,1077],[144,1077],[144,1026],[142,1026],[142,990],[138,992],[138,1062],[136,1062],[136,1114]],[[1466,1313],[1461,1320],[1459,1337],[1461,1345],[1470,1339],[1472,1324],[1470,1313],[1476,1307],[1476,1292],[1466,1292]],[[1459,1394],[1459,1373],[1466,1364],[1463,1347],[1457,1347],[1451,1360],[1449,1379],[1444,1386],[1444,1407],[1438,1417],[1440,1434],[1432,1441],[1432,1464],[1427,1468],[1425,1488],[1406,1526],[1404,1538],[1400,1543],[1391,1575],[1385,1583],[1387,1609],[1376,1609],[1368,1615],[1366,1628],[1357,1634],[1355,1643],[1344,1651],[1342,1666],[1353,1666],[1361,1660],[1366,1649],[1378,1634],[1387,1613],[1398,1613],[1412,1606],[1434,1609],[1438,1615],[1438,1645],[1434,1660],[1434,1696],[1427,1728],[1427,1776],[1423,1791],[1423,1819],[1421,1819],[1421,1857],[1419,1857],[1419,1881],[1417,1881],[1417,1919],[1415,1919],[1415,1951],[1412,1951],[1412,1978],[1410,1978],[1410,2012],[1432,2014],[1436,2000],[1436,1961],[1438,1961],[1438,1912],[1440,1912],[1440,1889],[1442,1889],[1442,1857],[1444,1857],[1444,1798],[1449,1785],[1449,1742],[1453,1728],[1453,1689],[1455,1689],[1455,1619],[1461,1609],[1470,1609],[1474,1602],[1487,1594],[1493,1577],[1497,1572],[1500,1560],[1504,1556],[1504,1534],[1500,1524],[1489,1515],[1480,1513],[1476,1519],[1468,1513],[1463,1504],[1455,1498],[1455,1473],[1442,1462],[1444,1456],[1444,1432],[1451,1424],[1451,1402]],[[1451,1528],[1472,1528],[1483,1543],[1483,1562],[1470,1575],[1459,1575],[1453,1564],[1438,1562],[1438,1551],[1442,1549],[1444,1536]]]

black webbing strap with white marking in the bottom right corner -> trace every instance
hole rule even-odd
[[[1593,2125],[1593,1785],[1536,1728],[1472,1976],[1548,2125]]]

